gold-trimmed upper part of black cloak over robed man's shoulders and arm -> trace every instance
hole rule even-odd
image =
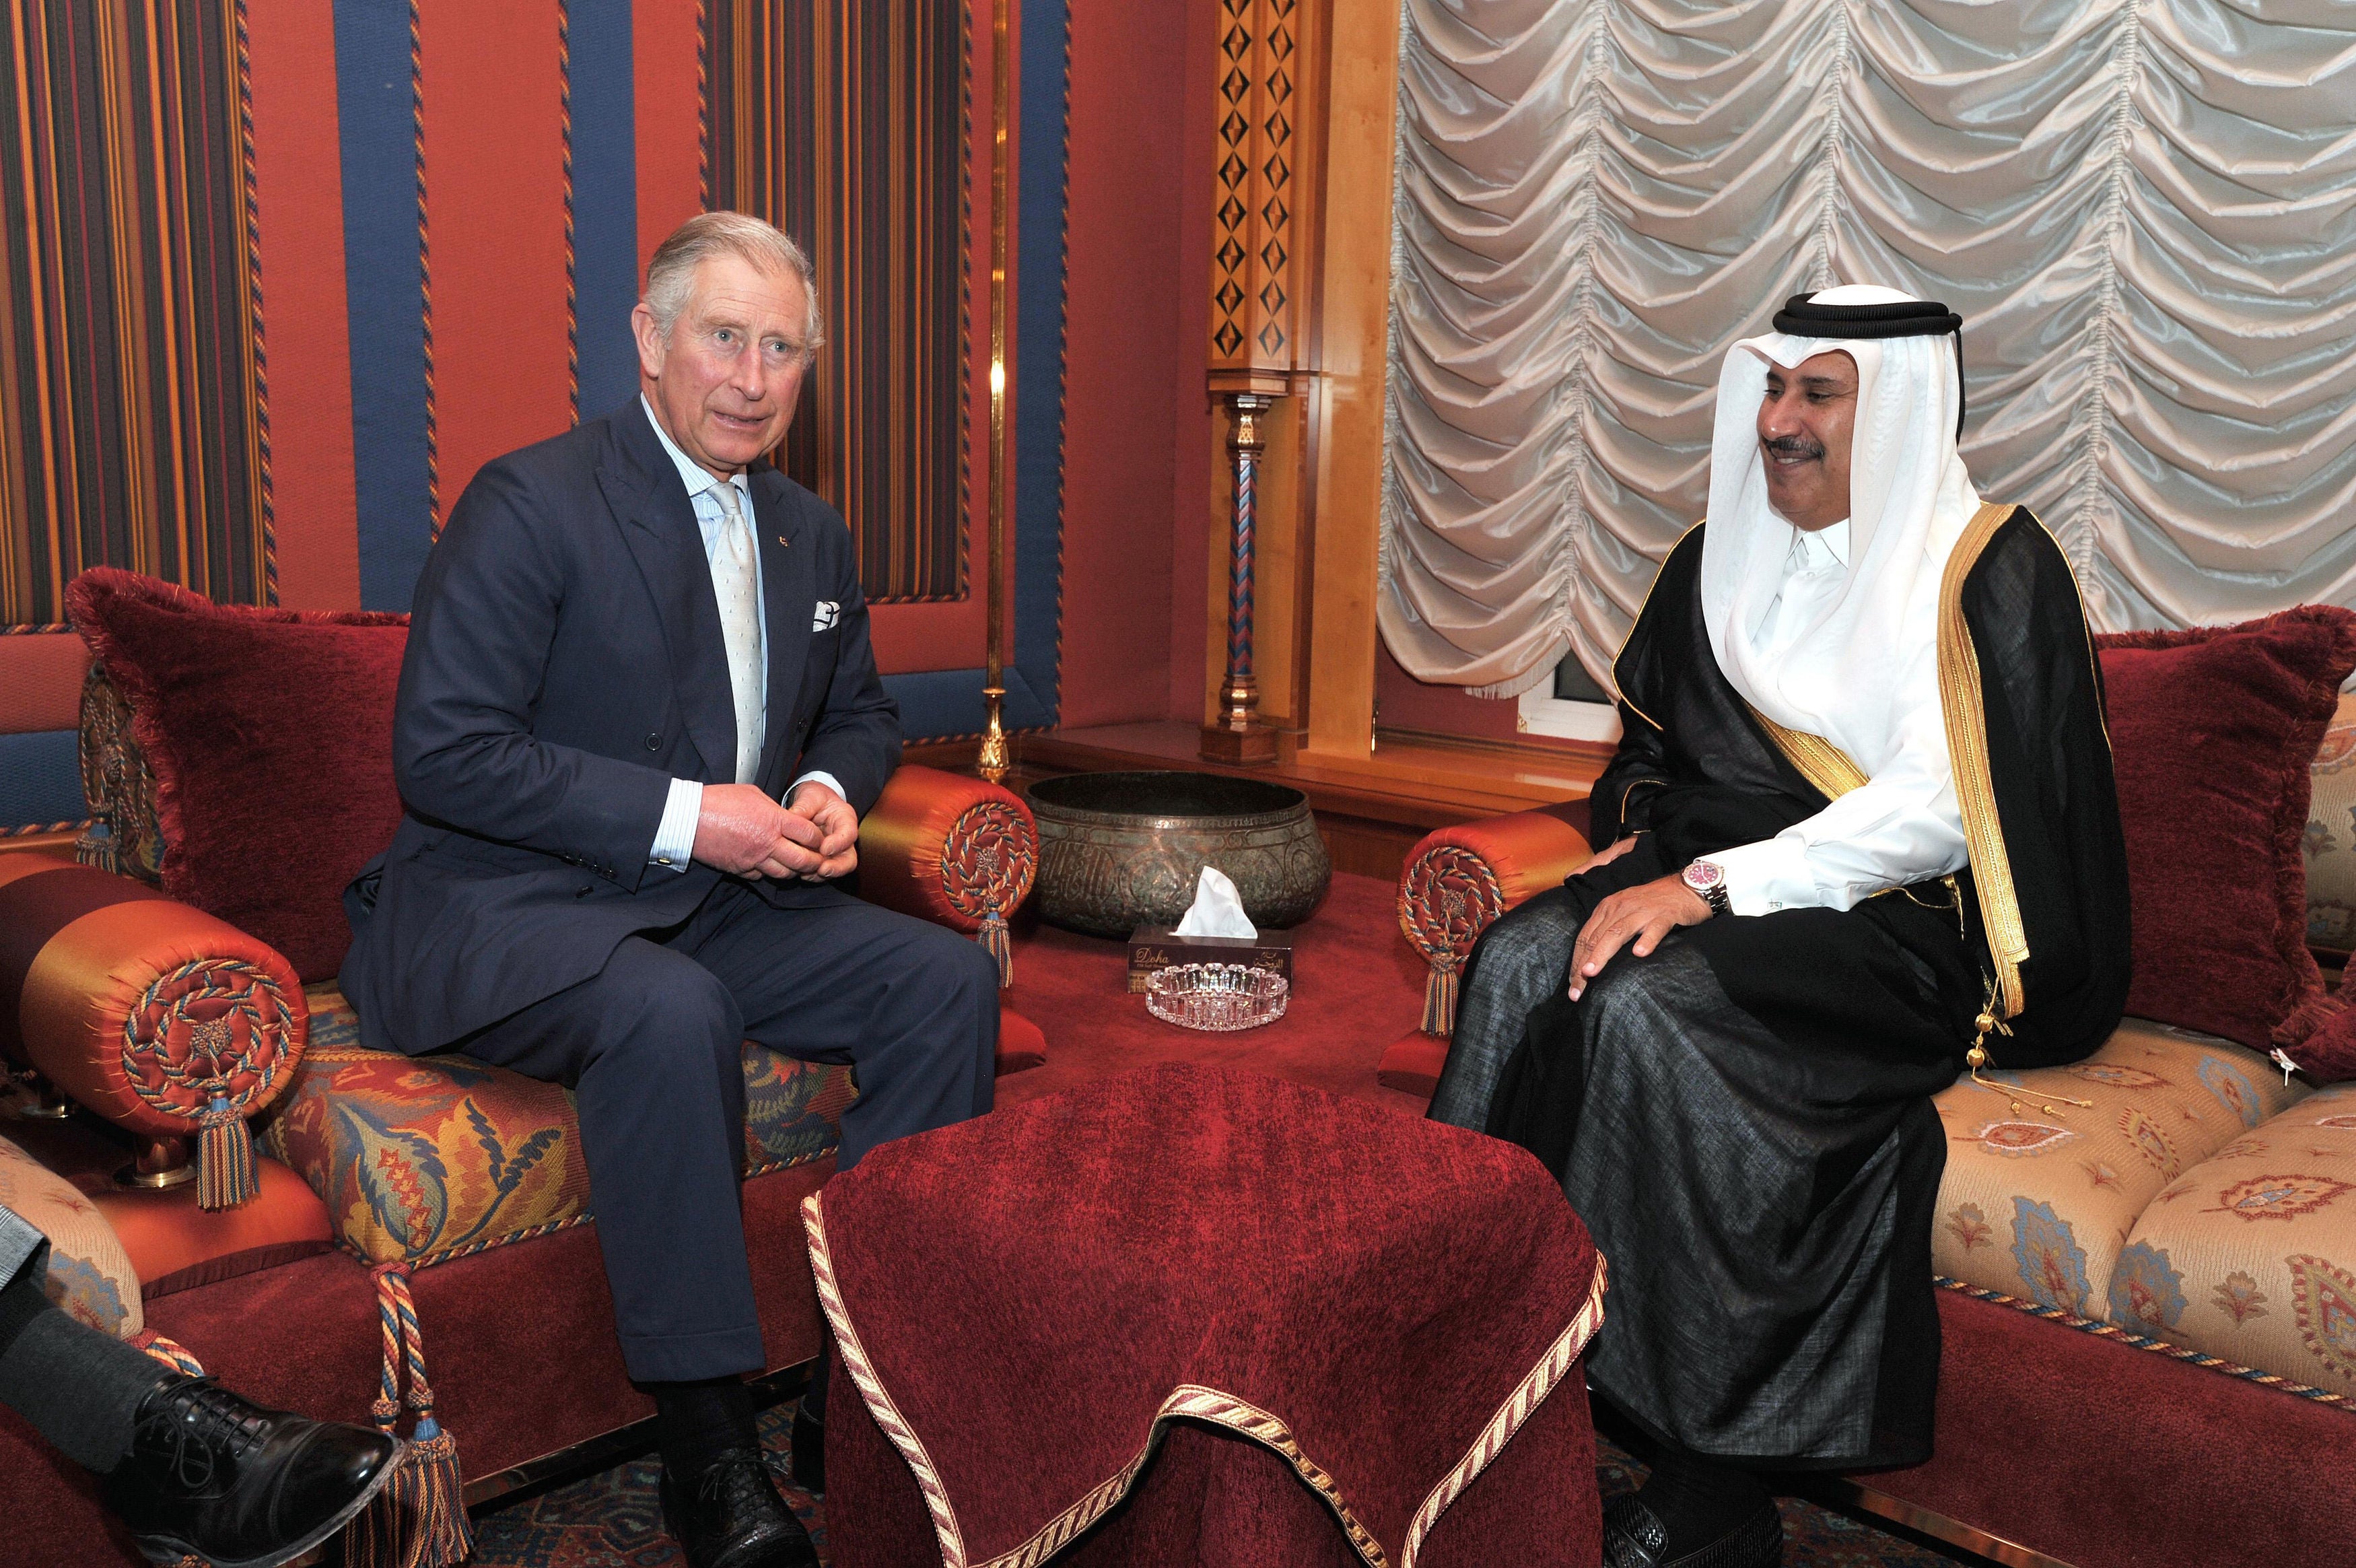
[[[1626,738],[1590,797],[1597,844],[1649,828],[1673,868],[1769,839],[1864,783],[1838,747],[1783,731],[1720,674],[1701,622],[1701,538],[1692,528],[1663,561],[1621,648]],[[2127,846],[2078,580],[2026,507],[1981,507],[1948,554],[1939,698],[1972,851],[1955,875],[1977,986],[1958,1049],[1988,1012],[1998,1068],[2090,1056],[2127,1002]],[[1944,901],[1937,887],[1892,896]],[[1920,927],[1906,915],[1890,924]],[[1955,931],[1951,920],[1937,938],[1918,934],[1941,971]]]

